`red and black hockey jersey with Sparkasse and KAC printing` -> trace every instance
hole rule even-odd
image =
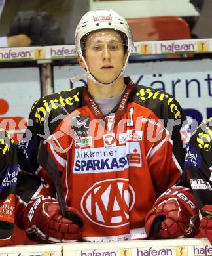
[[[145,238],[147,212],[181,177],[189,137],[181,107],[163,91],[135,86],[128,77],[125,83],[115,114],[106,117],[87,87],[41,98],[18,145],[20,168],[42,177],[54,196],[50,177],[35,161],[43,140],[60,171],[67,205],[86,219],[85,241]],[[42,194],[41,183],[20,185],[20,198],[27,202]]]

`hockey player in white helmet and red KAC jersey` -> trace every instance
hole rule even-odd
[[[33,104],[18,145],[16,223],[39,243],[194,236],[194,198],[187,188],[172,187],[189,137],[181,106],[123,76],[133,38],[116,12],[86,13],[75,47],[87,85]],[[47,153],[40,166],[42,144]],[[72,219],[62,216],[61,196],[44,169],[52,169],[51,161]]]

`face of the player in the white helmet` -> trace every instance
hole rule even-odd
[[[100,30],[88,35],[84,56],[90,73],[101,83],[112,83],[126,61],[122,37],[115,30]]]

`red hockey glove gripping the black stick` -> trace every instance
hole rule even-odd
[[[84,223],[84,217],[71,207],[67,207],[73,215]],[[39,244],[56,242],[73,242],[82,238],[78,224],[60,215],[58,200],[40,197],[32,200],[24,213],[24,229],[27,236]]]

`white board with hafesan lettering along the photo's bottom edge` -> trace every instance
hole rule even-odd
[[[0,256],[209,256],[205,238],[25,245],[0,248]]]

